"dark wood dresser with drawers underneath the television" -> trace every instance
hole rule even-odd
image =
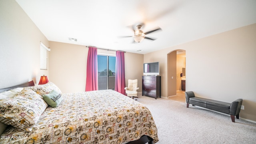
[[[161,76],[142,76],[142,96],[161,98]]]

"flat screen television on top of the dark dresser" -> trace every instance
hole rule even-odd
[[[144,63],[143,65],[143,75],[159,75],[159,62]]]

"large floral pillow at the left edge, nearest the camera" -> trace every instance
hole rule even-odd
[[[30,132],[48,105],[42,96],[25,87],[17,96],[0,100],[0,106],[0,122]]]

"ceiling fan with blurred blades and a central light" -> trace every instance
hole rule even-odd
[[[150,33],[155,32],[157,30],[162,30],[161,28],[157,28],[155,30],[150,30],[148,32],[143,32],[140,29],[142,26],[143,26],[142,24],[139,24],[139,25],[136,26],[137,29],[133,28],[134,36],[122,36],[122,38],[133,37],[135,42],[142,42],[142,40],[144,40],[144,38],[146,38],[148,40],[156,40],[156,39],[153,39],[153,38],[146,37],[146,34],[150,34]]]

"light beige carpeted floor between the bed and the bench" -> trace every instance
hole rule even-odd
[[[158,128],[156,144],[255,144],[256,124],[166,98],[136,98],[147,106]]]

